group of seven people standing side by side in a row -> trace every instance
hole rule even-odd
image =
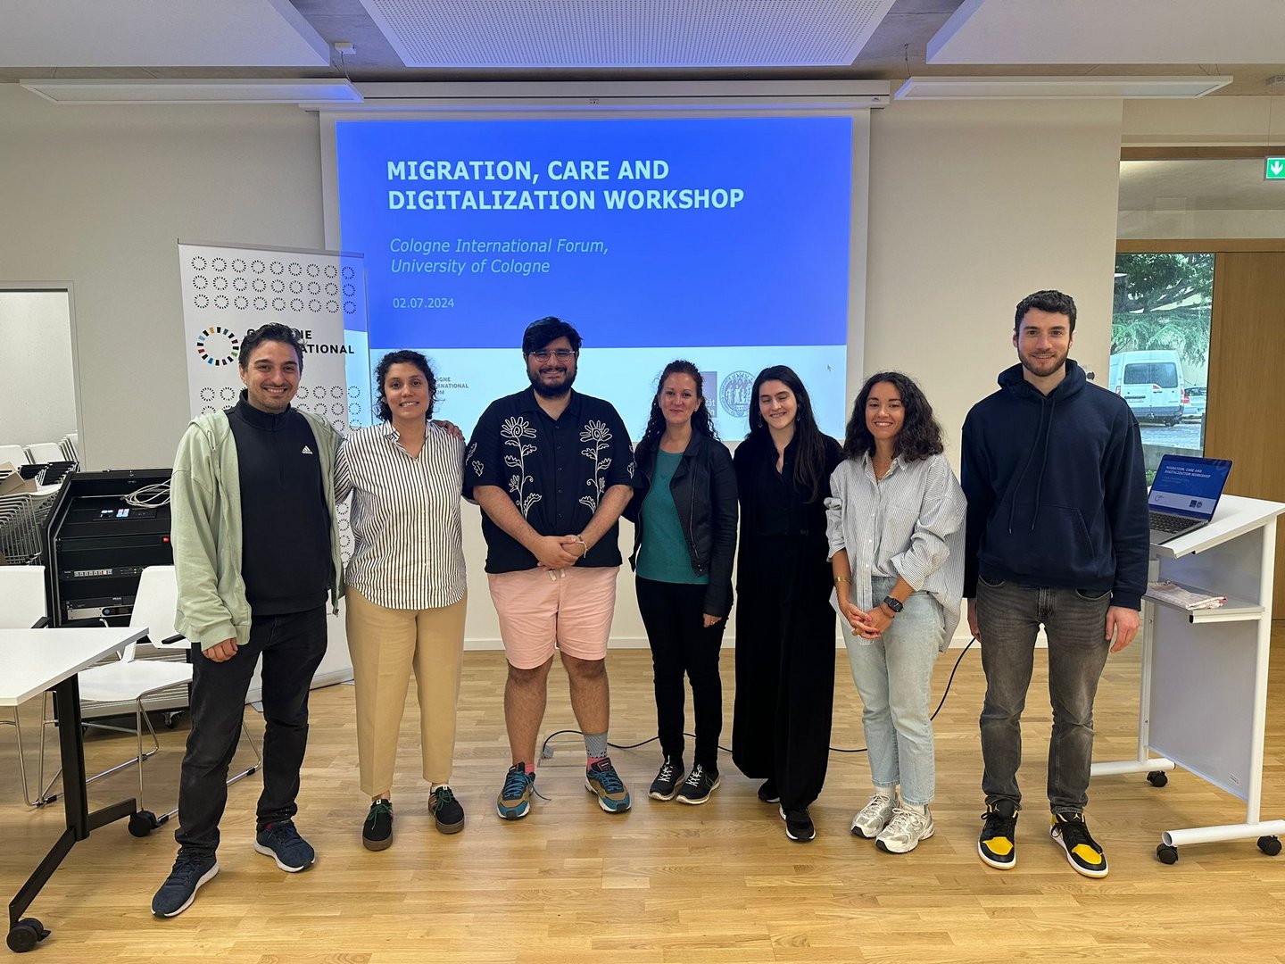
[[[631,806],[608,753],[605,662],[625,515],[653,656],[662,762],[651,798],[702,805],[720,785],[718,659],[735,596],[732,762],[762,781],[758,797],[775,805],[790,839],[815,837],[810,806],[829,758],[838,617],[871,776],[852,833],[889,853],[914,850],[934,833],[929,689],[962,599],[987,679],[980,859],[997,869],[1016,861],[1020,716],[1043,626],[1051,837],[1076,870],[1105,875],[1083,817],[1092,706],[1108,652],[1137,631],[1149,535],[1137,423],[1068,357],[1074,326],[1074,301],[1060,292],[1018,305],[1019,361],[968,415],[962,485],[928,398],[897,371],[866,379],[840,445],[819,428],[799,377],[766,368],[750,392],[749,432],[730,454],[700,370],[673,361],[635,449],[609,402],[572,387],[580,333],[545,317],[523,334],[529,387],[492,402],[466,443],[433,420],[434,373],[414,351],[379,362],[379,424],[344,440],[290,406],[303,362],[294,333],[279,324],[251,333],[240,401],[195,419],[175,459],[176,627],[200,657],[180,850],[153,913],[182,913],[218,871],[225,780],[260,657],[254,848],[288,873],[312,864],[293,821],[308,686],[325,650],[326,605],[344,594],[360,783],[371,801],[362,843],[378,851],[393,842],[391,792],[412,671],[428,808],[442,833],[464,828],[451,788],[466,607],[461,496],[482,509],[508,661],[501,819],[531,812],[555,657],[585,739],[586,790],[609,814]],[[347,571],[335,528],[344,500],[355,536]],[[690,770],[685,681],[695,717]]]

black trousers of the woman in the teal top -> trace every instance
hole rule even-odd
[[[639,612],[651,644],[655,684],[655,724],[660,751],[682,760],[684,701],[682,676],[691,681],[691,702],[696,716],[695,762],[718,771],[718,735],[722,731],[722,680],[718,677],[718,650],[722,647],[722,618],[704,626],[705,587],[678,582],[636,580]]]

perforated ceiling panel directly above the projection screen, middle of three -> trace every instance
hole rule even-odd
[[[893,0],[361,0],[407,67],[848,66]]]

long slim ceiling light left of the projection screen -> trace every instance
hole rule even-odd
[[[344,78],[321,80],[24,80],[55,104],[359,104]]]

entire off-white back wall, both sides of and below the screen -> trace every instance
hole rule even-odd
[[[1081,308],[1105,373],[1119,103],[894,103],[871,135],[865,369],[919,378],[957,463],[968,407],[1011,364],[1013,306]],[[323,247],[316,116],[294,107],[53,105],[0,85],[0,283],[76,284],[90,468],[168,465],[186,423],[175,242]],[[0,284],[3,287],[3,284]],[[470,645],[499,639],[465,508]],[[632,542],[622,524],[622,545]],[[613,639],[644,638],[622,573]]]

